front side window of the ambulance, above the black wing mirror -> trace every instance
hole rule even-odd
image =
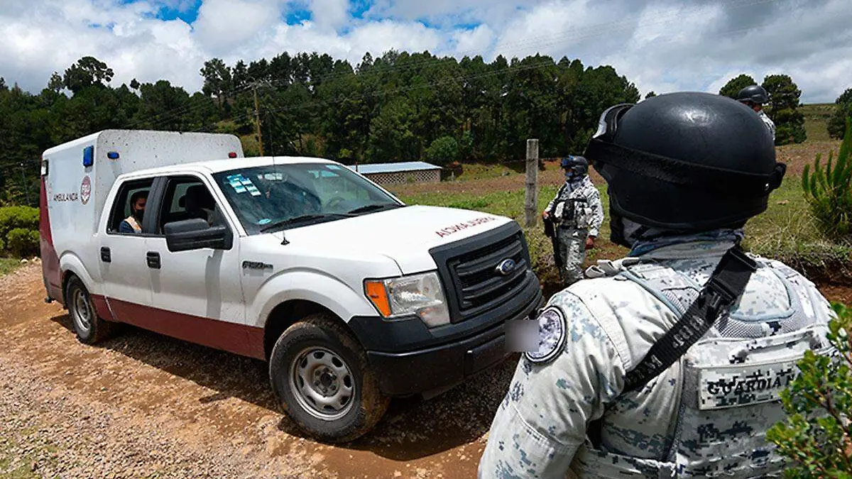
[[[194,176],[176,176],[169,179],[158,221],[158,234],[168,222],[201,218],[213,226],[224,224],[222,211],[210,189]]]

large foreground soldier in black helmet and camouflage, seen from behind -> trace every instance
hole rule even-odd
[[[607,180],[612,238],[630,255],[598,262],[539,312],[538,350],[521,357],[479,477],[780,474],[764,435],[785,418],[779,393],[804,351],[832,352],[833,312],[802,274],[740,249],[746,221],[785,172],[763,129],[735,101],[705,93],[602,115],[585,156]],[[717,269],[738,254],[751,266],[717,308]],[[677,343],[667,332],[699,324],[688,315],[696,308],[714,314]],[[667,338],[681,350],[636,383]]]

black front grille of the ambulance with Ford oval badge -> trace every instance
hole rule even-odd
[[[433,252],[433,257],[439,264],[454,323],[498,307],[527,289],[535,277],[530,271],[527,243],[516,226],[498,228],[452,246],[442,251],[444,254]],[[501,274],[498,265],[506,259],[514,261],[515,268]]]

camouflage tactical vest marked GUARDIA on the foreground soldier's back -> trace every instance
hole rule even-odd
[[[757,262],[758,268],[769,268],[784,285],[791,307],[756,315],[755,305],[743,300],[671,366],[679,368],[676,377],[682,384],[675,389],[680,391],[680,406],[673,434],[659,448],[664,459],[620,455],[587,440],[574,457],[573,474],[583,479],[780,476],[782,458],[765,439],[766,431],[786,418],[779,393],[796,377],[796,362],[806,350],[826,354],[832,349],[825,339],[828,319],[815,321],[815,316],[824,315],[813,311],[806,315],[801,288],[790,282],[797,273],[781,263],[759,258]],[[659,263],[619,264],[603,274],[635,281],[678,317],[703,287],[687,274]],[[816,298],[810,299],[815,303]],[[644,390],[628,394],[648,394],[663,376]],[[595,431],[590,428],[590,437],[602,437],[606,443],[606,424],[605,413],[597,425],[601,435],[592,434]]]

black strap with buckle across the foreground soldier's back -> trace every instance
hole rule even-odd
[[[756,270],[757,263],[740,245],[728,250],[681,319],[653,344],[639,365],[627,373],[624,392],[642,389],[684,355],[742,295]]]

